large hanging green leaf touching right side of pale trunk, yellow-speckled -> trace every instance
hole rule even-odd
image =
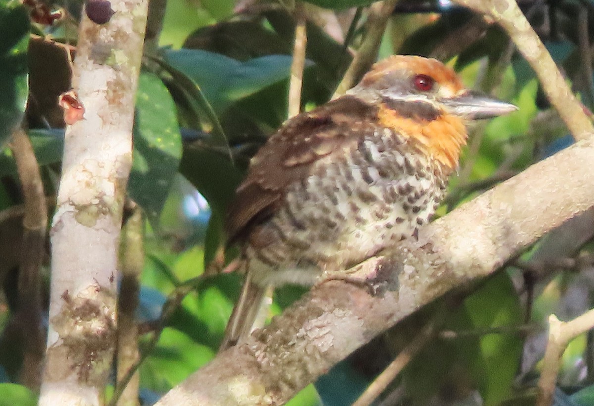
[[[163,82],[142,73],[136,94],[134,159],[128,192],[156,221],[177,173],[182,144],[175,105]]]

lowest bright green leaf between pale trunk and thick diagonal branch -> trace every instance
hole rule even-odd
[[[166,328],[153,353],[140,366],[140,385],[166,392],[213,359],[214,351]]]

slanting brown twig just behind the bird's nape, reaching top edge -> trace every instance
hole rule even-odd
[[[347,90],[353,87],[375,62],[378,49],[380,49],[381,37],[384,35],[388,18],[390,18],[397,1],[386,0],[371,6],[366,23],[367,31],[365,33],[365,39],[361,47],[359,47],[357,55],[353,58],[349,69],[347,69],[345,76],[340,81],[336,91],[334,91],[333,99],[342,96]]]

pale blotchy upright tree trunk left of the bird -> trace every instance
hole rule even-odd
[[[72,85],[84,118],[68,119],[51,231],[42,406],[102,404],[108,382],[116,342],[118,241],[147,3],[90,0],[83,11]],[[71,110],[82,111],[68,101],[74,103]]]

